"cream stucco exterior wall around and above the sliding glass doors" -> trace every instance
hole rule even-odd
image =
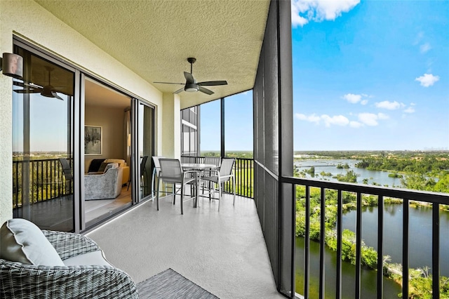
[[[162,126],[163,117],[174,115],[173,112],[163,114],[164,109],[177,108],[176,114],[179,115],[179,99],[177,105],[170,102],[168,106],[163,107],[163,95],[154,86],[138,77],[34,1],[0,1],[0,53],[13,51],[13,34],[64,58],[80,69],[95,74],[109,84],[125,89],[131,95],[151,102],[156,106],[156,154],[166,156],[173,154],[173,152],[165,154],[162,149],[169,149],[170,146],[180,142],[179,128],[177,128],[179,125],[172,126],[175,131],[164,129],[163,134],[158,128]],[[11,86],[11,78],[0,74],[0,225],[12,218]],[[179,117],[177,120],[179,124]],[[163,135],[167,138],[163,138]],[[168,146],[163,147],[166,139],[168,139]]]

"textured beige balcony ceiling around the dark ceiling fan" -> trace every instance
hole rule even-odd
[[[160,91],[173,93],[193,65],[215,93],[180,93],[189,107],[253,88],[269,0],[35,0]]]

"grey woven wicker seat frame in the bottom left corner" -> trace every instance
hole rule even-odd
[[[100,251],[81,234],[42,232],[63,262]],[[104,261],[106,265],[52,267],[0,259],[0,298],[138,298],[133,279]]]

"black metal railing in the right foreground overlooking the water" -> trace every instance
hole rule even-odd
[[[384,199],[399,199],[403,206],[403,232],[402,232],[402,294],[403,298],[408,298],[409,294],[409,223],[412,219],[409,218],[409,204],[411,201],[420,201],[432,206],[432,232],[431,232],[431,247],[432,247],[432,265],[431,265],[431,275],[434,277],[431,282],[431,294],[432,298],[440,298],[440,268],[439,268],[439,251],[440,251],[440,230],[439,230],[439,211],[441,205],[449,204],[449,194],[436,193],[436,192],[420,192],[415,190],[404,190],[396,188],[378,187],[378,186],[367,186],[367,185],[357,185],[351,183],[343,182],[326,182],[322,180],[311,180],[311,179],[300,179],[300,178],[282,178],[283,184],[288,184],[292,186],[293,199],[297,204],[298,194],[297,187],[303,186],[304,193],[300,194],[302,197],[301,204],[305,206],[304,215],[304,225],[305,225],[305,235],[304,235],[304,293],[300,294],[304,298],[309,298],[309,281],[310,279],[310,232],[311,232],[311,190],[318,188],[320,192],[320,205],[319,205],[319,215],[320,215],[320,263],[319,263],[319,298],[324,298],[324,284],[325,284],[325,266],[324,266],[324,248],[326,246],[326,191],[335,190],[337,193],[337,218],[336,218],[336,235],[337,235],[337,271],[336,271],[336,298],[342,298],[342,215],[343,215],[343,193],[351,192],[355,194],[356,198],[356,273],[355,273],[355,297],[361,298],[361,250],[362,250],[362,202],[367,196],[377,197],[378,206],[378,216],[377,216],[377,298],[382,298],[383,294],[383,273],[384,273],[384,263],[382,258],[384,255],[382,244],[384,241]],[[334,192],[335,192],[334,191]],[[297,225],[297,224],[296,224]],[[295,230],[293,230],[295,231]]]

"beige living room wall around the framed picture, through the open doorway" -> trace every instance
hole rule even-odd
[[[87,126],[102,127],[102,154],[86,155],[84,161],[91,159],[126,159],[123,153],[123,109],[105,106],[86,105],[84,123]],[[87,167],[88,165],[86,165]]]

